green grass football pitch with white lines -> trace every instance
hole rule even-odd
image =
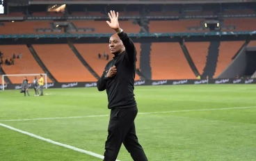
[[[30,94],[25,97],[19,90],[1,91],[0,123],[104,154],[109,116],[83,116],[109,115],[106,92],[91,87],[48,89],[45,96],[33,96],[30,89]],[[144,112],[136,117],[136,133],[148,160],[256,160],[255,85],[141,86],[135,87],[135,94],[138,112]],[[0,158],[101,160],[2,126]],[[118,160],[132,160],[123,145]]]

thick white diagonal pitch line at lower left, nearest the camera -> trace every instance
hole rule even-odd
[[[17,128],[13,128],[12,126],[8,126],[8,125],[6,125],[6,124],[1,124],[1,123],[0,123],[0,126],[3,126],[3,127],[5,127],[5,128],[9,128],[10,130],[14,130],[14,131],[17,131],[17,132],[22,133],[22,134],[25,134],[25,135],[29,135],[30,137],[35,137],[35,138],[37,138],[37,139],[43,140],[43,141],[45,141],[45,142],[49,142],[49,143],[51,143],[51,144],[55,144],[55,145],[58,145],[58,146],[63,146],[63,147],[65,147],[65,148],[71,149],[71,150],[73,150],[73,151],[78,151],[78,152],[80,152],[80,153],[86,153],[87,155],[91,155],[91,156],[93,156],[93,157],[95,157],[95,158],[99,158],[99,159],[102,159],[102,160],[104,159],[104,156],[103,156],[103,155],[99,155],[99,154],[93,153],[93,152],[91,152],[91,151],[86,151],[86,150],[83,150],[83,149],[79,149],[79,148],[76,148],[76,147],[74,147],[74,146],[70,146],[70,145],[67,145],[67,144],[62,144],[61,142],[55,142],[54,140],[47,139],[47,138],[45,138],[45,137],[40,137],[40,136],[38,136],[38,135],[35,135],[35,134],[32,134],[32,133],[28,133],[28,132],[26,132],[26,131],[24,131],[24,130],[19,130],[19,129],[17,129]],[[116,160],[116,161],[120,161],[120,160]]]

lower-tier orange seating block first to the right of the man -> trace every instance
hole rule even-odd
[[[154,42],[151,51],[152,80],[195,78],[177,42]]]

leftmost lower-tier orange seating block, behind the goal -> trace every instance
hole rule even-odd
[[[26,45],[1,45],[1,52],[3,53],[3,61],[6,59],[10,60],[13,58],[13,53],[15,53],[14,65],[3,65],[2,69],[6,74],[44,74],[38,62],[35,61],[31,52],[26,47]],[[22,53],[22,58],[17,58],[18,54]],[[10,76],[10,81],[12,83],[22,83],[24,76]],[[33,80],[33,76],[27,76],[27,78],[31,81]],[[51,80],[47,79],[49,83]]]

